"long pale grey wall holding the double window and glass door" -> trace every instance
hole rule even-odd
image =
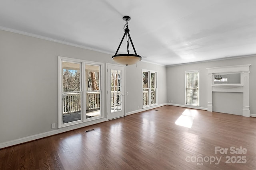
[[[58,127],[58,56],[114,63],[109,54],[0,30],[0,148],[64,131],[51,129],[51,123]],[[159,72],[158,103],[166,104],[166,67],[135,67],[126,66],[126,112],[142,106],[142,68]]]

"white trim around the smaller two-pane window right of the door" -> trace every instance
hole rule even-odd
[[[151,80],[151,73],[155,73],[155,75],[156,75],[156,82],[155,82],[155,84],[156,84],[156,87],[155,87],[155,89],[156,89],[156,96],[155,96],[155,100],[156,100],[156,103],[155,104],[151,104],[151,82],[150,82],[150,84],[148,84],[148,90],[149,90],[149,95],[148,95],[148,98],[150,99],[149,101],[148,101],[148,105],[146,105],[146,106],[144,106],[143,105],[143,103],[144,103],[144,101],[143,101],[143,81],[142,81],[142,109],[143,108],[146,108],[146,107],[151,107],[151,106],[156,106],[156,105],[158,105],[158,73],[157,73],[157,71],[155,71],[155,70],[147,70],[147,69],[142,69],[142,74],[141,74],[141,80],[143,80],[143,72],[148,72],[148,82],[150,82],[150,80]]]

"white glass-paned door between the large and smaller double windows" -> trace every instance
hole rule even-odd
[[[107,65],[107,118],[124,116],[124,66]]]

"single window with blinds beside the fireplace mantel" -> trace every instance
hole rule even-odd
[[[186,103],[187,105],[199,106],[199,70],[186,71]]]

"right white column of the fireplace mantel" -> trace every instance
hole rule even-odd
[[[249,73],[250,71],[242,72],[244,79],[244,103],[243,103],[243,116],[250,117],[249,109]]]

